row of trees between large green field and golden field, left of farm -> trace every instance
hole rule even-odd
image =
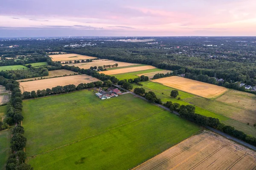
[[[75,86],[74,84],[69,84],[66,86],[55,86],[52,87],[52,89],[43,89],[43,90],[37,90],[37,91],[32,91],[32,92],[23,92],[22,98],[23,99],[29,99],[29,98],[39,98],[39,97],[45,97],[45,96],[49,96],[49,95],[57,95],[57,94],[62,94],[62,93],[68,93],[68,92],[73,92],[76,90],[81,90],[81,89],[90,89],[93,87],[97,87],[97,86],[111,86],[112,82],[110,80],[107,81],[107,83],[105,84],[102,83],[102,81],[95,81],[92,83],[81,83],[78,86]]]

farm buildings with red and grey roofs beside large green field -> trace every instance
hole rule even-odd
[[[107,91],[104,91],[102,88],[96,89],[98,92],[95,94],[98,98],[105,100],[109,98],[117,97],[118,95],[121,95],[122,92],[114,87],[109,87]]]

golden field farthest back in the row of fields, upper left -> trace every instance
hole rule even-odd
[[[79,54],[59,54],[59,55],[49,55],[52,61],[70,61],[70,60],[82,60],[82,59],[94,59],[96,57],[90,57],[87,55]]]

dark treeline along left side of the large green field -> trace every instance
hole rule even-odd
[[[0,77],[0,85],[8,86],[6,90],[11,90],[11,100],[8,105],[7,118],[4,119],[1,128],[9,128],[14,124],[17,126],[12,129],[11,149],[12,154],[9,156],[6,162],[6,170],[33,170],[33,168],[26,164],[26,153],[24,148],[26,146],[26,137],[24,129],[20,125],[23,120],[22,112],[22,94],[19,88],[19,83],[14,80],[6,80],[2,76]]]

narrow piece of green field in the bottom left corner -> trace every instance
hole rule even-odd
[[[0,131],[0,170],[4,169],[7,158],[11,153],[11,130]]]

